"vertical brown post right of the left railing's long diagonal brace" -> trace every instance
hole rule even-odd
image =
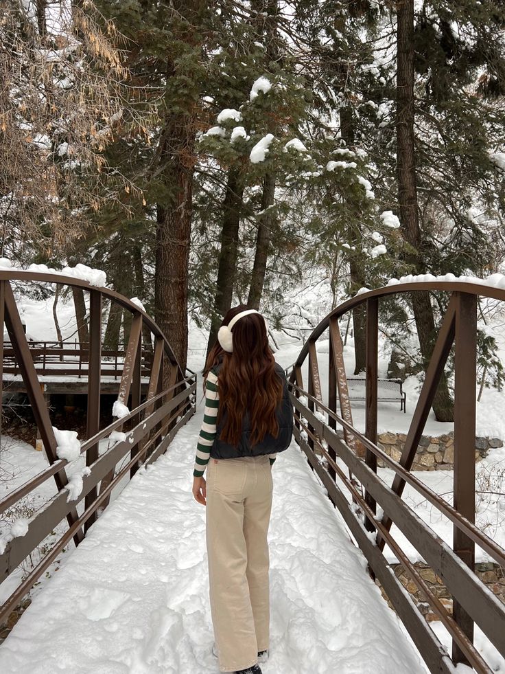
[[[100,427],[100,379],[102,376],[102,293],[89,293],[89,363],[88,363],[88,414],[86,417],[86,438],[92,438]],[[91,466],[98,458],[98,444],[86,452],[86,466]],[[86,494],[84,505],[89,508],[97,497],[94,486]],[[86,532],[96,519],[96,512],[84,524]]]

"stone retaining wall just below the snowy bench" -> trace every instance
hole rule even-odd
[[[407,436],[403,433],[382,433],[378,445],[396,461],[401,457]],[[500,438],[475,438],[475,460],[480,461],[489,449],[503,447]],[[384,467],[378,459],[377,464]],[[416,457],[412,465],[413,471],[452,470],[454,466],[454,433],[443,436],[421,436]]]

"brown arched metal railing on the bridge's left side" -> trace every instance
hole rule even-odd
[[[89,293],[89,344],[83,350],[86,353],[88,407],[86,440],[80,448],[89,472],[82,475],[82,490],[75,499],[70,499],[66,489],[69,482],[66,471],[68,462],[58,458],[49,409],[38,381],[38,353],[36,348],[30,348],[24,333],[11,285],[13,281],[66,284]],[[117,302],[123,310],[132,314],[128,345],[121,356],[121,368],[117,368],[121,377],[118,401],[124,405],[130,402],[131,412],[100,429],[102,356],[106,354],[106,350],[102,349],[104,300]],[[99,508],[105,508],[113,489],[124,484],[123,478],[131,478],[139,467],[153,462],[166,451],[178,429],[195,412],[196,375],[191,373],[186,377],[183,374],[167,339],[152,318],[137,304],[114,291],[91,286],[88,282],[73,277],[15,270],[0,271],[0,323],[2,326],[5,323],[10,337],[9,348],[12,349],[7,368],[12,366],[12,359],[15,359],[17,372],[23,378],[38,433],[49,460],[49,466],[45,470],[0,500],[0,515],[20,504],[22,499],[34,493],[47,480],[56,481],[56,494],[30,517],[26,534],[12,538],[0,554],[0,583],[19,568],[59,524],[65,520],[68,523],[67,530],[57,537],[52,547],[43,554],[0,607],[1,624],[69,541],[73,539],[75,545],[82,541],[84,533],[95,521]],[[148,357],[143,357],[146,350],[143,350],[142,339],[148,332],[152,341],[148,344]],[[75,350],[72,350],[72,355],[75,355]],[[0,356],[3,366],[3,330],[0,337]],[[82,360],[82,355],[80,359]],[[58,374],[65,374],[64,370],[54,369]],[[1,375],[0,394],[3,371]],[[145,396],[142,395],[141,388],[143,378],[148,380]],[[113,431],[124,431],[126,439],[112,442],[112,445],[109,442],[107,449],[99,453],[100,440],[108,438]],[[83,501],[82,513],[79,514],[77,506]]]

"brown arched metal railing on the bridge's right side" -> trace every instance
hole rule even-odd
[[[419,401],[412,416],[400,460],[390,458],[377,445],[377,347],[379,300],[396,293],[447,291],[450,294],[432,359],[427,367]],[[332,311],[314,329],[290,371],[290,388],[295,408],[296,442],[305,452],[333,504],[340,510],[357,545],[361,548],[373,577],[381,583],[408,629],[431,672],[453,673],[464,662],[479,674],[492,669],[473,645],[473,626],[480,629],[505,657],[505,605],[494,596],[474,572],[475,544],[491,559],[505,567],[505,550],[475,526],[475,388],[477,297],[505,300],[505,291],[471,282],[409,282],[369,291],[353,297]],[[353,307],[366,307],[366,410],[365,432],[353,426],[347,393],[342,339],[338,319]],[[327,405],[322,389],[316,341],[329,330],[329,387]],[[414,456],[432,406],[438,381],[454,342],[454,506],[430,490],[410,472]],[[303,385],[303,366],[308,358],[308,385]],[[337,413],[337,401],[340,414]],[[322,421],[321,414],[327,418]],[[336,432],[342,427],[344,438]],[[316,451],[324,457],[320,462]],[[377,457],[395,472],[391,485],[377,475]],[[342,469],[343,462],[347,472]],[[454,525],[452,548],[441,540],[401,498],[409,484],[433,504]],[[376,515],[377,504],[384,516]],[[357,506],[357,507],[356,507]],[[357,512],[359,510],[359,512]],[[449,613],[421,578],[407,554],[391,533],[395,524],[442,579],[453,597]],[[375,540],[371,537],[375,533]],[[414,604],[383,554],[387,543],[421,590],[432,611],[449,631],[451,656]]]

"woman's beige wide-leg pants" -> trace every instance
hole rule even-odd
[[[247,669],[268,649],[268,456],[213,459],[207,465],[207,556],[211,614],[222,672]]]

